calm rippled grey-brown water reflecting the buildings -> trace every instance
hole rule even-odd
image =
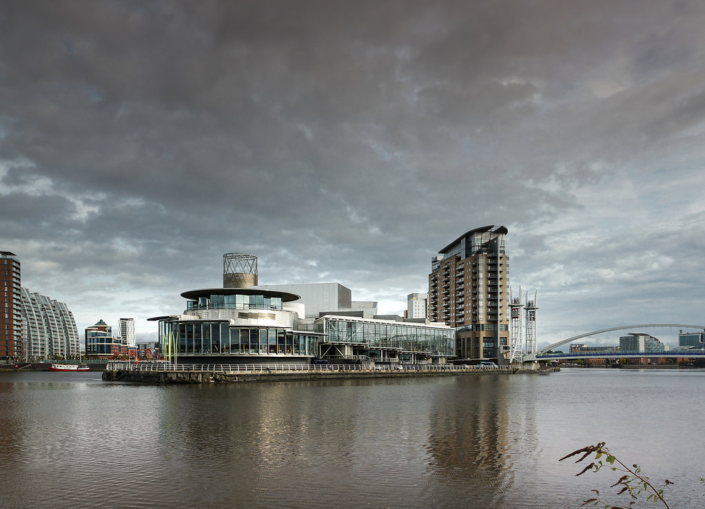
[[[685,370],[209,386],[0,373],[0,506],[574,508],[618,476],[573,477],[582,464],[558,458],[606,441],[675,482],[671,507],[703,507],[704,390]]]

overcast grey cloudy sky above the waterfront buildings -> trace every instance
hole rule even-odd
[[[702,324],[703,26],[699,0],[7,0],[0,250],[80,336],[154,341],[225,253],[401,314],[502,225],[539,346]]]

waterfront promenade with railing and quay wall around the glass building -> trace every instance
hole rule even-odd
[[[518,367],[452,364],[173,364],[109,362],[104,380],[204,384],[219,382],[397,378],[516,373]]]

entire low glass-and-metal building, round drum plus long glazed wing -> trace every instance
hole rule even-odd
[[[204,364],[307,364],[314,357],[441,363],[455,353],[453,329],[445,324],[351,316],[364,314],[371,303],[353,309],[350,290],[338,283],[262,288],[258,279],[254,255],[223,255],[223,288],[185,291],[183,313],[149,319],[159,321],[161,354]],[[299,295],[282,290],[294,287],[309,294],[306,311]],[[315,317],[305,318],[308,305]],[[341,308],[350,314],[343,316]]]

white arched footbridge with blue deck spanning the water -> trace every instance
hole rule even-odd
[[[548,345],[546,348],[541,348],[536,352],[527,353],[524,355],[524,362],[535,362],[537,360],[556,360],[570,358],[589,358],[589,357],[599,357],[604,359],[607,357],[620,358],[625,357],[704,357],[705,352],[698,352],[697,350],[671,350],[668,352],[589,352],[581,354],[551,354],[548,353],[554,348],[558,348],[567,343],[573,343],[582,338],[588,338],[589,336],[597,336],[598,334],[603,334],[612,331],[626,331],[630,329],[649,329],[652,327],[661,328],[676,328],[676,329],[702,329],[705,331],[705,325],[686,325],[686,324],[640,324],[640,325],[623,325],[618,327],[611,327],[610,329],[602,329],[601,331],[586,332],[584,334],[579,334],[577,336],[572,336],[572,338],[563,339],[558,341],[558,343],[553,343],[553,345]]]

